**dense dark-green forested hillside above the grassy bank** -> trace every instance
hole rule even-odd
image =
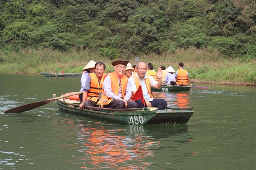
[[[256,56],[255,0],[1,0],[0,50],[122,53],[217,48]]]

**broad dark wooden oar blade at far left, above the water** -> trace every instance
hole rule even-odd
[[[53,101],[54,101],[54,99],[48,99],[48,100],[45,100],[45,101],[39,101],[39,102],[24,104],[24,105],[18,106],[16,108],[6,110],[6,111],[4,111],[4,113],[21,113],[21,112],[25,112],[25,111],[28,111],[28,110],[32,110],[32,109],[37,108],[39,106],[43,106],[44,104],[47,104],[47,103],[50,103],[50,102],[53,102]]]

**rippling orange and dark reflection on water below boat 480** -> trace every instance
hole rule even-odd
[[[79,125],[82,130],[78,134],[78,140],[82,145],[78,152],[83,154],[80,157],[80,168],[152,169],[150,166],[154,162],[144,159],[155,157],[155,153],[161,148],[162,139],[169,137],[175,143],[192,141],[187,125],[122,126],[120,129],[95,125],[98,123]]]

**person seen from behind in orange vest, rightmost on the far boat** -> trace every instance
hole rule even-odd
[[[184,69],[184,64],[182,62],[179,63],[179,69],[175,73],[175,79],[176,81],[171,81],[171,84],[173,86],[179,85],[179,86],[187,86],[189,83],[188,81],[189,74],[186,69]]]

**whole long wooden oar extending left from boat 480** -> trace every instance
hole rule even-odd
[[[50,103],[50,102],[54,102],[54,101],[56,101],[58,99],[62,99],[62,98],[73,96],[73,95],[78,95],[78,94],[81,94],[81,93],[83,93],[83,91],[72,93],[72,94],[68,94],[68,95],[63,95],[63,96],[52,98],[52,99],[47,99],[47,100],[44,100],[44,101],[24,104],[24,105],[18,106],[16,108],[12,108],[12,109],[6,110],[4,113],[21,113],[21,112],[25,112],[25,111],[37,108],[39,106],[43,106],[44,104],[47,104],[47,103]]]

